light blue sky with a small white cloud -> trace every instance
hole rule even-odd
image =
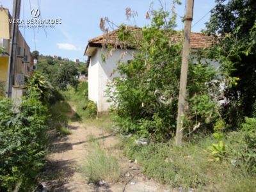
[[[172,1],[162,1],[164,6],[170,10]],[[181,0],[182,4],[176,7],[177,15],[185,14],[185,1]],[[8,8],[12,15],[13,0],[0,0],[0,3],[4,8]],[[102,35],[99,28],[101,17],[108,17],[117,25],[125,23],[143,27],[149,24],[145,15],[151,3],[155,10],[160,7],[159,0],[21,0],[20,19],[31,19],[31,10],[40,9],[38,18],[61,19],[61,24],[55,24],[54,28],[45,28],[45,30],[42,28],[20,28],[20,32],[26,39],[31,52],[37,50],[44,55],[86,61],[87,57],[83,54],[88,40]],[[214,0],[195,0],[193,32],[200,32],[205,28],[205,22],[211,15],[209,11],[214,5]],[[135,18],[136,23],[127,21],[125,8],[128,7],[138,13]],[[202,19],[202,17],[204,18]],[[184,24],[179,18],[178,16],[178,30],[184,28]]]

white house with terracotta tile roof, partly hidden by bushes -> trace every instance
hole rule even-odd
[[[141,28],[134,28],[139,29]],[[102,49],[106,45],[117,45],[117,49],[112,52],[111,56],[102,61],[102,54],[107,54],[106,49]],[[190,46],[193,50],[203,49],[212,44],[212,38],[202,35],[201,33],[191,33]],[[108,111],[111,103],[107,102],[106,88],[107,84],[112,81],[116,64],[119,61],[126,62],[132,60],[132,56],[136,54],[135,49],[128,48],[124,54],[124,42],[118,42],[118,29],[111,31],[108,35],[101,35],[88,41],[88,45],[84,51],[84,55],[88,56],[88,97],[97,104],[99,112]],[[216,63],[212,63],[216,65]]]

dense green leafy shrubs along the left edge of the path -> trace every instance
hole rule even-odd
[[[44,165],[48,115],[43,87],[50,89],[36,75],[20,106],[13,106],[10,99],[0,100],[0,191],[31,191]]]

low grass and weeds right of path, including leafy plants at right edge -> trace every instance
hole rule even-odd
[[[223,161],[216,161],[216,154],[209,149],[218,140],[200,134],[190,138],[182,148],[175,147],[173,141],[138,145],[134,142],[136,138],[123,140],[123,146],[125,156],[136,159],[147,177],[154,177],[173,188],[254,191],[255,148],[248,149],[246,134],[244,131],[227,134],[225,156],[221,156],[225,157]]]

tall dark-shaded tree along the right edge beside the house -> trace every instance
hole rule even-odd
[[[211,56],[221,63],[228,88],[225,120],[235,127],[256,109],[256,1],[216,0],[206,32],[220,35]]]

